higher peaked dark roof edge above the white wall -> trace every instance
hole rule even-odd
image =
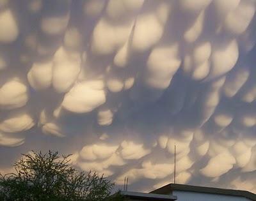
[[[239,196],[245,197],[250,200],[256,200],[256,194],[251,193],[249,191],[241,191],[241,190],[230,190],[230,189],[223,189],[223,188],[211,188],[211,187],[203,187],[203,186],[190,186],[185,184],[167,184],[157,190],[151,191],[150,193],[157,193],[157,194],[168,194],[171,193],[173,190],[179,191],[192,191],[198,193],[212,193],[212,194],[220,194],[220,195],[232,195],[232,196]]]

